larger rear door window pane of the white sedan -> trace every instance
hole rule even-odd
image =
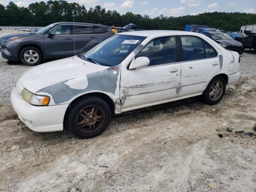
[[[203,41],[194,36],[181,36],[183,61],[204,59]]]

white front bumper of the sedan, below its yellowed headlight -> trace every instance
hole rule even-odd
[[[11,102],[14,111],[28,128],[36,132],[63,130],[63,120],[68,104],[33,106],[22,99],[18,89],[12,89]]]

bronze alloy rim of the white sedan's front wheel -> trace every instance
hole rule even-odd
[[[105,114],[98,106],[87,106],[76,117],[76,126],[85,133],[95,132],[102,127]]]

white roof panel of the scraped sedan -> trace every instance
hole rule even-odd
[[[122,32],[122,35],[134,35],[134,36],[167,36],[167,35],[197,35],[198,33],[188,31],[174,31],[174,30],[142,30],[142,31],[130,31]],[[197,35],[198,36],[198,35]]]

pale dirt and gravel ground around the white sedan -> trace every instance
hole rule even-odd
[[[235,133],[256,134],[256,52],[244,52],[242,76],[219,104],[135,110],[88,140],[18,119],[10,90],[28,68],[0,57],[0,191],[256,192],[256,137]]]

